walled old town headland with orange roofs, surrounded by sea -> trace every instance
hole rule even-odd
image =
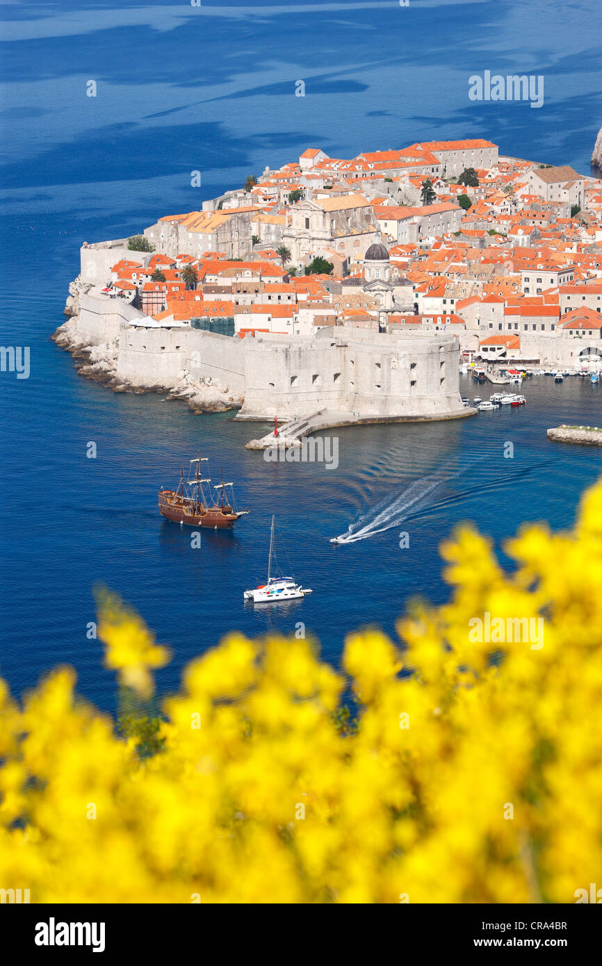
[[[114,391],[275,417],[291,442],[471,415],[461,353],[599,368],[601,190],[479,139],[308,149],[200,212],[84,242],[54,339]]]

